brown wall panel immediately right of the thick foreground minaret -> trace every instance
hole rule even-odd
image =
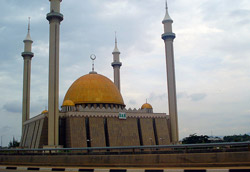
[[[85,118],[69,117],[66,119],[66,147],[87,147]]]

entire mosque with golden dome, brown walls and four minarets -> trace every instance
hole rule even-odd
[[[32,39],[30,24],[24,40],[22,148],[76,148],[166,145],[178,143],[178,119],[174,69],[173,20],[168,14],[162,21],[165,43],[169,114],[154,113],[145,103],[140,109],[126,107],[120,89],[120,51],[115,39],[112,52],[114,82],[92,71],[81,76],[68,89],[59,109],[59,37],[62,0],[50,0],[47,20],[49,39],[48,111],[30,118],[30,72]],[[91,56],[92,60],[95,56]]]

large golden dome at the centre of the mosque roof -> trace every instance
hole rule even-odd
[[[75,104],[124,105],[121,93],[115,84],[107,77],[94,73],[78,78],[68,89],[65,100],[72,100]]]

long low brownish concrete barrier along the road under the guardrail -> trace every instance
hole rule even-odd
[[[45,167],[244,167],[250,152],[130,155],[0,155],[4,166]]]

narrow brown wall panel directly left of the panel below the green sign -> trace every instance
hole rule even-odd
[[[89,118],[91,147],[106,147],[103,118]]]

